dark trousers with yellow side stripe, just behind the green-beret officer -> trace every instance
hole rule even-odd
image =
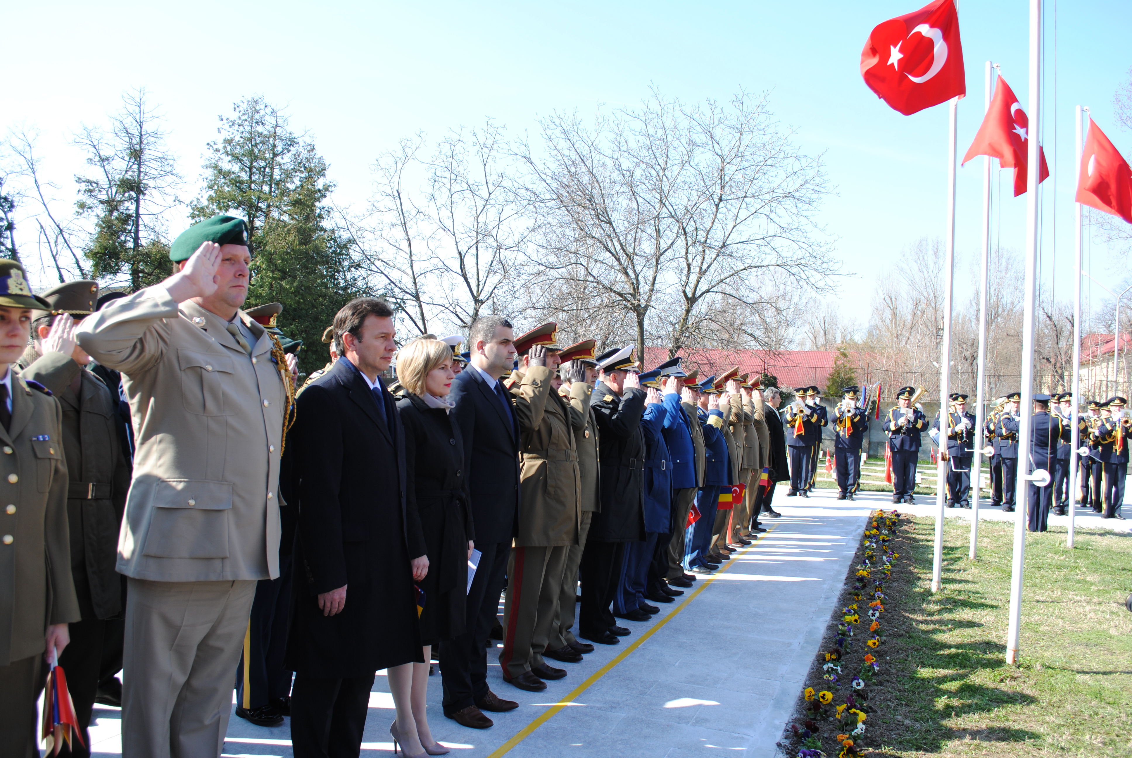
[[[278,579],[256,582],[245,655],[235,675],[235,702],[255,710],[291,695],[291,672],[283,665],[291,629],[291,556],[280,555]]]

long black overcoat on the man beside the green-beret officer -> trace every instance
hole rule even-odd
[[[387,421],[340,358],[303,390],[288,434],[299,505],[288,664],[310,676],[423,663],[409,562],[424,539],[406,510],[404,429],[393,397],[381,395]],[[324,616],[318,595],[342,586],[345,607]]]

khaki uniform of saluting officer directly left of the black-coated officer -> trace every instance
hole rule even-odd
[[[577,570],[582,564],[586,535],[590,534],[590,521],[593,520],[593,514],[601,510],[601,483],[598,478],[598,420],[594,418],[593,409],[590,408],[593,385],[585,382],[574,382],[569,390],[564,386],[558,392],[575,411],[571,418],[582,419],[582,426],[574,427],[577,470],[582,488],[578,499],[577,544],[571,545],[566,555],[561,593],[558,596],[558,618],[551,630],[550,640],[547,642],[551,650],[577,644],[577,638],[572,631],[577,615],[575,599],[577,597]]]

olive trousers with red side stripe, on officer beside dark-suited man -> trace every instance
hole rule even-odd
[[[542,665],[542,651],[550,641],[569,548],[569,545],[511,548],[503,649],[499,650],[504,679],[514,679]]]

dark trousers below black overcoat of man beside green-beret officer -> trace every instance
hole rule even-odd
[[[291,696],[294,758],[357,758],[374,674],[320,679],[299,672]]]

